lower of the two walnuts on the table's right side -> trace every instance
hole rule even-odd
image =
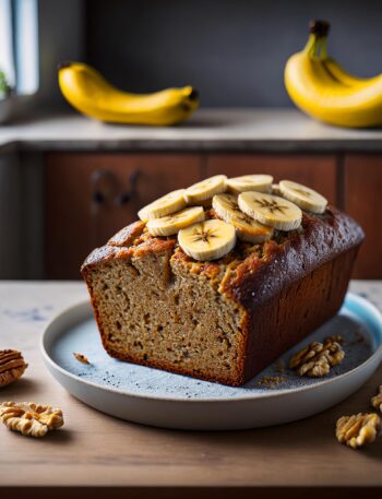
[[[336,437],[339,443],[358,449],[375,440],[381,430],[381,418],[378,414],[356,414],[343,416],[337,420]]]

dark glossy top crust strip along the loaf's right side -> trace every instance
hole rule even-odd
[[[333,206],[322,216],[303,214],[301,227],[280,243],[266,241],[262,258],[247,258],[224,290],[244,307],[261,305],[363,240],[360,226]]]

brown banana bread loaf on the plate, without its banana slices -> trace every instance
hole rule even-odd
[[[206,218],[217,218],[214,210]],[[145,222],[120,230],[82,266],[107,353],[241,385],[341,308],[363,233],[333,206],[262,243],[238,240],[199,261]]]

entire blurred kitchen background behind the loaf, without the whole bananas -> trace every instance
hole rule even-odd
[[[382,133],[313,123],[285,91],[317,17],[348,71],[382,72],[379,1],[0,0],[0,278],[80,278],[139,207],[217,173],[319,190],[367,231],[355,276],[382,278]],[[164,131],[95,123],[61,95],[64,60],[136,93],[192,84],[201,109]]]

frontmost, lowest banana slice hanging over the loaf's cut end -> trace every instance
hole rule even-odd
[[[178,241],[184,253],[194,260],[216,260],[235,247],[236,231],[226,222],[211,219],[182,228]]]

